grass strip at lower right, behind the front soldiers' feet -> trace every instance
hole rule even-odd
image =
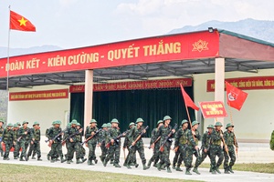
[[[205,167],[205,168],[209,169],[210,165],[208,163],[207,164],[203,163],[200,167]],[[223,165],[220,168],[223,169]],[[255,164],[255,163],[235,164],[233,166],[233,170],[274,174],[274,163],[267,163],[267,164]]]

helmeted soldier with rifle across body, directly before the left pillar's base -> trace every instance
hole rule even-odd
[[[87,126],[86,128],[86,133],[85,133],[86,139],[88,139],[90,136],[95,135],[95,133],[98,131],[96,124],[97,124],[97,121],[95,119],[90,120],[90,126]],[[92,163],[92,160],[94,160],[95,164],[97,164],[98,162],[95,155],[97,140],[98,140],[98,136],[94,136],[86,144],[86,146],[89,147],[88,165],[91,165],[91,166],[94,165]]]

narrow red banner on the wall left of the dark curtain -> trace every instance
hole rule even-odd
[[[9,93],[10,101],[68,98],[68,89]]]

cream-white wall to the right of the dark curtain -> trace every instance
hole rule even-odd
[[[258,70],[258,74],[246,72],[229,72],[226,78],[248,76],[274,76],[274,69]],[[201,101],[214,101],[214,92],[206,92],[206,81],[214,79],[214,74],[194,76],[195,104]],[[269,90],[244,90],[248,98],[240,111],[231,108],[237,138],[247,140],[269,140],[274,129],[274,89]],[[226,95],[225,95],[226,96]],[[225,125],[230,122],[230,113],[227,106]],[[214,119],[205,119],[204,130],[209,124],[214,124]],[[225,128],[224,128],[225,129]]]

